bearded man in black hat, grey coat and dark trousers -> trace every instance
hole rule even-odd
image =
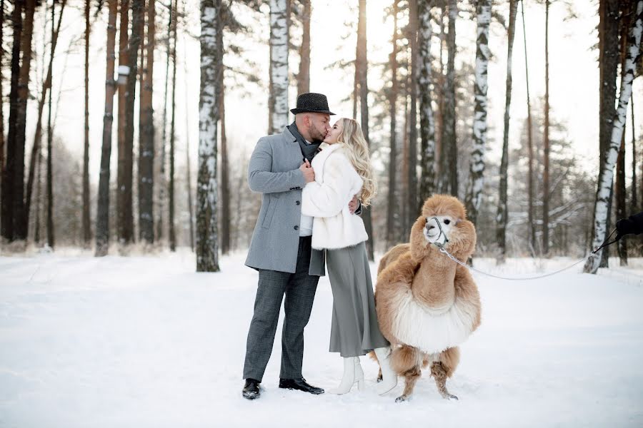
[[[291,113],[295,121],[283,133],[259,138],[248,168],[250,189],[262,195],[246,259],[247,266],[259,270],[244,363],[242,393],[247,399],[260,395],[284,296],[279,387],[324,392],[301,374],[304,327],[319,276],[325,273],[324,253],[311,249],[312,218],[301,214],[301,189],[315,178],[310,161],[330,130],[334,113],[321,93],[301,94]]]

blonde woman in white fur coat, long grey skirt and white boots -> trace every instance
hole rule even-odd
[[[344,357],[344,376],[329,392],[345,394],[364,387],[359,357],[374,350],[382,365],[378,393],[397,385],[390,369],[389,342],[379,331],[366,245],[369,236],[359,215],[349,210],[354,195],[368,206],[375,195],[369,148],[357,121],[340,118],[312,161],[315,180],[302,193],[301,213],[313,220],[312,248],[326,250],[333,292],[330,352]]]

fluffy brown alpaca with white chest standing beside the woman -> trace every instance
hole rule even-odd
[[[452,196],[433,195],[413,225],[411,242],[395,246],[379,263],[379,328],[391,342],[393,370],[406,379],[396,401],[411,396],[427,365],[442,397],[457,399],[447,390],[447,377],[459,362],[457,345],[480,325],[480,296],[469,270],[435,245],[444,235],[444,248],[458,260],[466,262],[474,253],[476,230],[462,203]]]

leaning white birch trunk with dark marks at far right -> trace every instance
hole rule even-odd
[[[594,210],[594,242],[592,250],[598,248],[607,235],[607,213],[609,205],[609,190],[614,179],[614,165],[616,165],[621,138],[625,126],[627,103],[632,96],[632,81],[636,71],[636,60],[639,56],[641,34],[643,32],[643,0],[637,1],[636,14],[632,19],[632,27],[627,36],[627,58],[621,78],[621,90],[619,95],[619,106],[612,126],[612,138],[610,138],[607,156],[603,165],[601,179],[598,183],[596,195],[596,208]],[[589,256],[584,266],[584,272],[596,273],[601,261],[602,250]]]

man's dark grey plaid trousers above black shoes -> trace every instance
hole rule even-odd
[[[281,329],[281,379],[298,379],[304,357],[304,327],[308,324],[319,277],[308,275],[311,237],[299,238],[294,273],[259,270],[259,285],[254,300],[254,315],[246,342],[244,379],[261,382],[270,359],[281,300],[284,325]]]

